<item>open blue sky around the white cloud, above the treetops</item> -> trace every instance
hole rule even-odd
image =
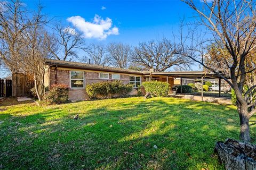
[[[35,8],[38,1],[25,1],[29,8]],[[118,28],[118,35],[110,34],[104,39],[86,38],[88,43],[121,41],[137,45],[140,41],[172,37],[177,33],[179,21],[194,20],[193,11],[179,0],[171,1],[41,1],[43,13],[65,24],[67,18],[81,16],[86,22],[93,22],[95,14],[102,20],[111,19],[111,28]],[[102,10],[103,7],[103,10]]]

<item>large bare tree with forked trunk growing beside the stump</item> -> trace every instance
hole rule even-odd
[[[243,91],[243,87],[247,75],[256,69],[251,67],[251,69],[246,70],[246,60],[249,62],[250,55],[254,55],[252,52],[255,51],[256,47],[256,2],[252,0],[203,0],[202,3],[194,3],[193,0],[182,1],[199,15],[199,24],[211,31],[211,43],[217,43],[218,46],[227,50],[228,60],[226,58],[223,60],[230,71],[231,80],[210,65],[205,65],[203,60],[199,60],[196,55],[198,53],[191,52],[198,52],[197,46],[190,46],[190,52],[184,50],[183,55],[218,74],[234,89],[241,125],[240,137],[243,141],[249,142],[251,140],[249,119],[256,113],[255,100],[251,100],[255,99],[256,86],[250,87],[246,92]],[[185,47],[185,44],[182,45]],[[201,56],[203,57],[204,54]]]

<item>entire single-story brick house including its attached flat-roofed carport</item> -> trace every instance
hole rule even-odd
[[[86,84],[102,81],[121,80],[124,84],[134,84],[134,89],[130,95],[137,94],[137,87],[140,86],[143,81],[156,80],[168,82],[170,87],[174,86],[175,78],[181,78],[181,82],[182,78],[202,78],[202,81],[203,78],[214,78],[219,79],[220,81],[220,77],[218,75],[206,74],[202,71],[154,72],[153,69],[150,71],[135,71],[60,60],[47,60],[46,65],[46,73],[44,77],[45,87],[51,87],[52,84],[57,83],[68,85],[70,87],[70,100],[88,99],[89,97],[85,90]]]

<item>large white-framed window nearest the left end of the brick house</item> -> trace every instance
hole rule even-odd
[[[84,88],[84,72],[71,71],[70,72],[70,86],[71,88]]]

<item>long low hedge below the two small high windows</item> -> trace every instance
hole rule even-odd
[[[132,84],[123,84],[120,80],[88,84],[86,92],[89,98],[125,97],[132,91]]]

